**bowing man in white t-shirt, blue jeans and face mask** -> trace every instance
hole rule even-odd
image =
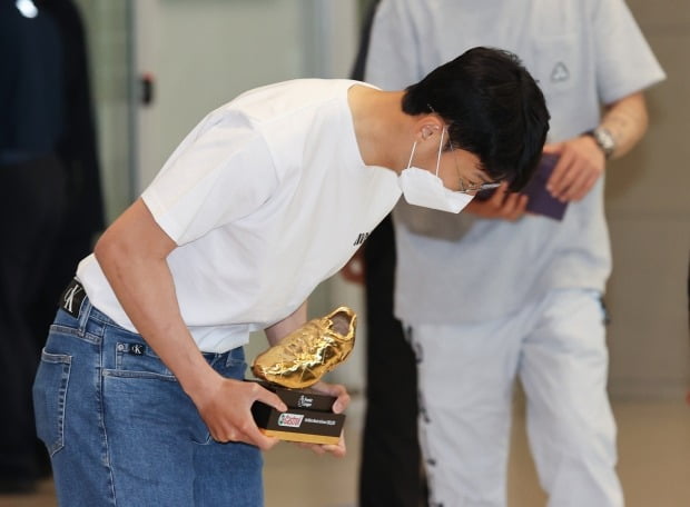
[[[277,440],[250,407],[286,407],[241,381],[249,332],[304,324],[401,192],[457,212],[520,188],[548,120],[519,60],[486,48],[403,91],[295,80],[210,112],[80,262],[51,328],[34,406],[60,504],[262,505]],[[346,407],[343,386],[316,388]]]

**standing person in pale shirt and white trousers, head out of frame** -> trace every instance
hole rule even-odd
[[[365,79],[414,81],[476,44],[509,49],[546,97],[544,193],[562,220],[500,188],[461,216],[394,211],[395,315],[418,360],[431,505],[504,506],[513,384],[550,506],[620,507],[601,296],[611,270],[608,158],[642,138],[664,73],[623,0],[382,0]],[[411,401],[412,402],[412,401]]]

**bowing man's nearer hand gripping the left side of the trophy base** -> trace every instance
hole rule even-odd
[[[216,441],[243,441],[268,450],[279,440],[259,431],[252,417],[255,401],[285,411],[287,406],[274,392],[257,382],[245,382],[217,376],[203,396],[193,397],[194,402]]]

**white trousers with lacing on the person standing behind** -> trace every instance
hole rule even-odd
[[[516,376],[549,506],[623,505],[597,291],[554,290],[497,321],[407,328],[418,358],[420,434],[433,506],[506,505]]]

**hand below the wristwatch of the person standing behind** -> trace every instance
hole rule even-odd
[[[579,201],[586,196],[607,166],[603,152],[590,136],[546,145],[544,151],[560,155],[546,190],[562,202]]]

